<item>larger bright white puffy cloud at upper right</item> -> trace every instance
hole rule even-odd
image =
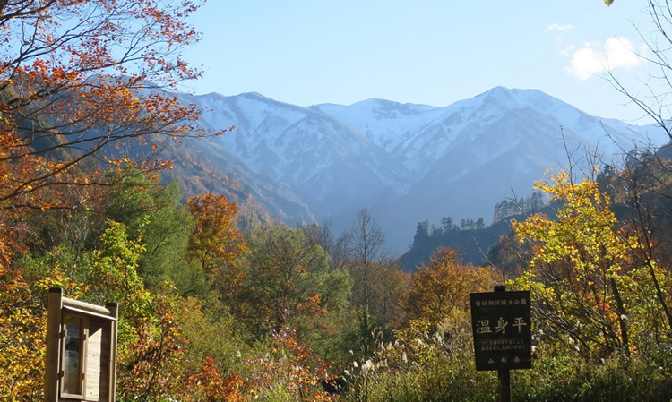
[[[627,38],[608,38],[601,50],[598,44],[587,43],[584,47],[571,53],[570,65],[567,73],[582,81],[600,75],[616,68],[630,68],[642,64],[642,57],[638,56],[632,42]]]

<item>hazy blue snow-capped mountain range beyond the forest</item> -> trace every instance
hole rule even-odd
[[[341,230],[368,208],[395,254],[412,242],[419,221],[489,220],[497,201],[530,194],[548,168],[566,165],[567,150],[599,150],[609,161],[635,143],[666,140],[651,127],[599,119],[538,90],[497,87],[448,107],[383,99],[297,107],[256,93],[185,101],[210,110],[200,120],[206,127],[236,125],[198,153],[222,174],[237,170],[262,203],[282,189],[287,208],[270,209],[278,218],[331,218]]]

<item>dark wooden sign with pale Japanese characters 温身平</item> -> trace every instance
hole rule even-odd
[[[530,292],[470,294],[476,370],[530,369]]]

